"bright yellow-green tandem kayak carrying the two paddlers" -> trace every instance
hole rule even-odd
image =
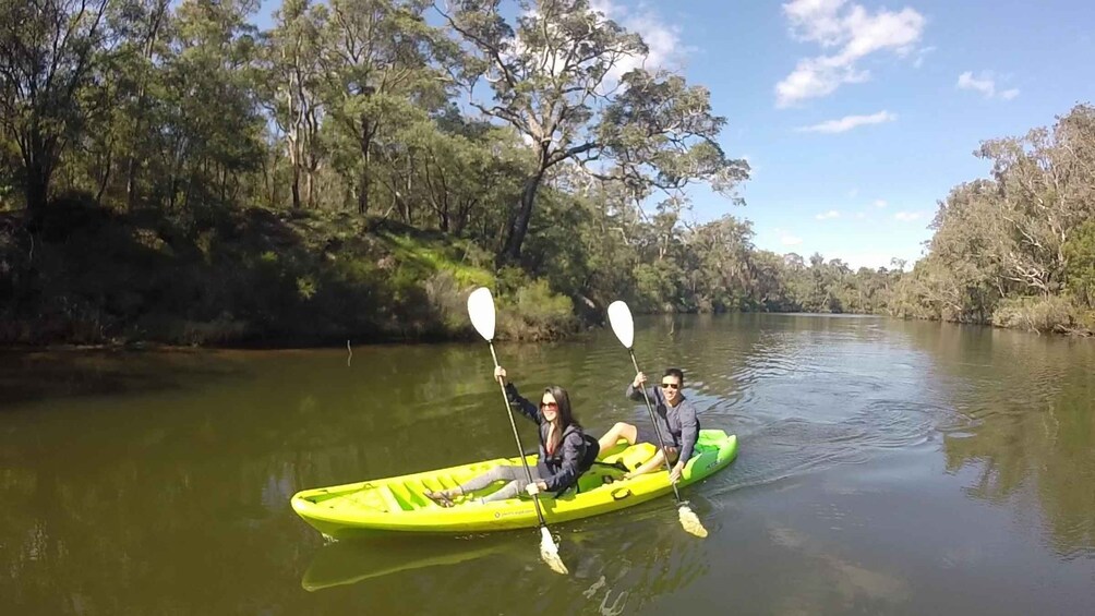
[[[700,431],[695,452],[681,473],[678,488],[700,481],[725,468],[737,457],[737,437],[723,430]],[[672,492],[669,473],[661,470],[621,480],[656,452],[649,443],[621,442],[598,455],[598,463],[583,474],[577,490],[558,498],[540,495],[544,520],[568,522],[602,515]],[[537,456],[526,460],[534,467]],[[520,458],[497,458],[449,468],[370,481],[315,488],[293,495],[293,511],[324,536],[335,539],[392,533],[459,534],[528,528],[539,525],[535,504],[528,496],[481,503],[479,497],[499,487],[457,499],[450,508],[426,498],[426,490],[451,488],[498,465],[520,465]]]

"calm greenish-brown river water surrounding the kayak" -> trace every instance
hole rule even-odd
[[[0,355],[0,614],[1093,614],[1095,342],[873,317],[638,321],[739,458],[555,528],[324,545],[303,488],[512,455],[485,344]],[[608,332],[498,348],[587,428]],[[522,438],[534,428],[521,421]]]

